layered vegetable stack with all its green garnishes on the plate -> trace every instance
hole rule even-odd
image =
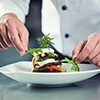
[[[32,69],[30,72],[66,72],[66,69],[62,65],[63,62],[73,64],[71,69],[79,71],[79,67],[74,63],[74,60],[69,60],[68,58],[62,59],[61,61],[55,60],[55,57],[58,57],[58,55],[55,54],[55,51],[49,46],[50,44],[54,45],[54,43],[51,42],[53,38],[50,38],[49,35],[50,34],[37,39],[40,48],[30,48],[26,51],[26,53],[33,55]]]

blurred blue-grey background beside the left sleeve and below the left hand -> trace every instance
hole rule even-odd
[[[39,47],[36,38],[41,37],[41,5],[42,0],[31,0],[29,14],[26,16],[25,26],[30,37],[28,48]],[[20,57],[18,51],[12,47],[8,50],[0,50],[0,67],[18,61],[31,61],[32,55],[27,54]]]

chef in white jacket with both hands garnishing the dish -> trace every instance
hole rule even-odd
[[[22,55],[28,47],[25,23],[30,0],[0,1],[0,49],[12,46]],[[42,0],[42,32],[54,38],[54,48],[100,67],[100,0]]]

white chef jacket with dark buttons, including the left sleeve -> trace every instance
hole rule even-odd
[[[6,6],[5,6],[6,5]],[[0,15],[15,13],[25,21],[29,0],[0,0]],[[100,0],[42,0],[42,32],[54,38],[54,47],[71,56],[77,42],[100,33]]]

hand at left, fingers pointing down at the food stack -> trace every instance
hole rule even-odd
[[[24,55],[28,46],[28,37],[26,27],[15,14],[8,13],[0,18],[1,50],[15,46],[18,52]]]

